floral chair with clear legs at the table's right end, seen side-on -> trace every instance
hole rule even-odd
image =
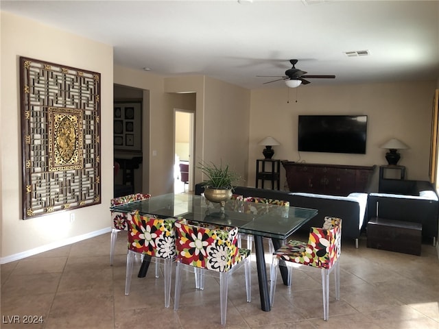
[[[308,242],[288,241],[273,254],[270,275],[270,304],[273,306],[279,262],[288,268],[288,286],[292,284],[292,265],[322,269],[323,319],[329,319],[329,274],[335,269],[335,300],[340,300],[340,252],[342,219],[325,217],[323,228],[311,227]]]

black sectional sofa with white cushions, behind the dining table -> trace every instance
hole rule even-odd
[[[353,239],[356,247],[361,230],[366,229],[372,217],[421,223],[423,237],[433,239],[433,243],[436,243],[439,199],[429,182],[382,180],[377,190],[370,187],[364,193],[335,196],[235,186],[234,193],[244,197],[284,200],[291,206],[317,209],[318,215],[302,230],[322,226],[325,216],[340,217],[343,219],[342,237]],[[195,194],[201,195],[203,191],[201,184],[195,185]]]

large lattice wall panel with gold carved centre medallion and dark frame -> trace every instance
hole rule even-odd
[[[20,58],[23,219],[101,203],[100,78]]]

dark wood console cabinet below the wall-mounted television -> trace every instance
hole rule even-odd
[[[348,195],[364,192],[375,166],[283,161],[291,192]]]

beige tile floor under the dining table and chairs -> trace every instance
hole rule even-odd
[[[1,265],[1,328],[222,328],[219,284],[206,278],[204,291],[185,283],[177,312],[164,308],[163,276],[133,276],[124,295],[126,237],[117,240],[114,266],[109,265],[110,234]],[[410,256],[343,241],[339,301],[322,319],[320,271],[294,271],[291,291],[279,277],[271,312],[260,308],[256,264],[252,262],[252,302],[246,302],[244,267],[229,285],[227,328],[439,328],[439,261],[432,245],[422,256]],[[174,280],[174,273],[173,273]],[[173,282],[174,283],[174,282]],[[331,281],[331,284],[333,282]],[[333,291],[333,284],[331,287]],[[171,295],[174,295],[174,284]],[[25,316],[43,324],[9,324]],[[18,317],[14,317],[18,316]],[[32,318],[31,318],[32,319]]]

